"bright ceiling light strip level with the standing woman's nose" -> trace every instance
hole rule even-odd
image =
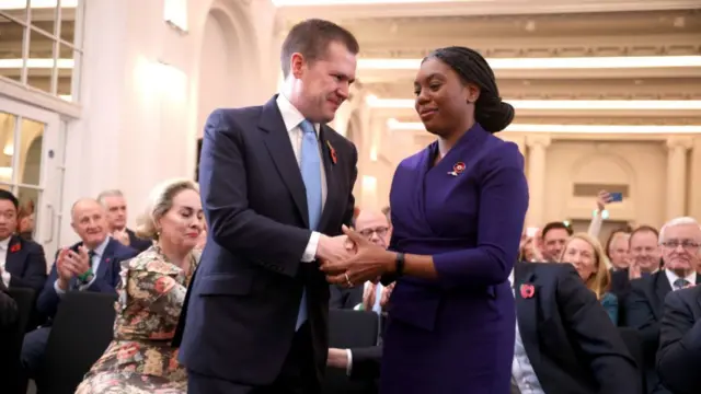
[[[701,111],[701,100],[508,100],[516,109],[574,109],[574,111]],[[371,108],[413,109],[412,99],[378,99],[369,95]]]

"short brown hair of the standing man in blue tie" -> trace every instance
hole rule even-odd
[[[309,19],[292,26],[283,43],[280,53],[283,76],[285,78],[289,76],[289,59],[292,54],[301,54],[306,61],[312,62],[326,55],[329,44],[332,42],[345,45],[353,55],[360,51],[360,45],[353,33],[333,22]]]

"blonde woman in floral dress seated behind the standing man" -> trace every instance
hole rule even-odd
[[[187,392],[171,339],[199,263],[194,247],[203,227],[195,183],[172,181],[153,189],[137,232],[154,244],[123,264],[114,339],[76,394]]]

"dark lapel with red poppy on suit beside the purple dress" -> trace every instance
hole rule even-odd
[[[528,359],[530,360],[533,370],[538,371],[540,367],[540,338],[538,336],[538,304],[540,289],[536,285],[536,276],[528,271],[527,264],[536,263],[516,264],[514,271],[514,297],[516,298],[516,317],[521,343],[524,344],[524,349],[526,349],[526,354],[528,355]],[[527,294],[521,294],[521,288],[524,287],[532,287],[532,297],[528,298]]]

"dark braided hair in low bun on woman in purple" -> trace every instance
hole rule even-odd
[[[514,120],[514,107],[502,101],[494,71],[476,50],[451,46],[439,48],[426,57],[436,58],[452,68],[464,83],[480,88],[474,103],[474,119],[490,132],[504,130]],[[424,60],[426,60],[424,59]]]

